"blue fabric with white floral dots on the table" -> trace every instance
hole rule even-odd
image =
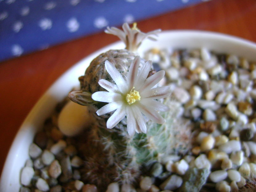
[[[202,1],[0,0],[0,61]]]

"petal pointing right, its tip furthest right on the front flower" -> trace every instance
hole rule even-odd
[[[151,98],[151,99],[161,99],[169,96],[171,94],[171,90],[169,86],[156,87],[150,90],[143,91],[141,95],[141,99]]]

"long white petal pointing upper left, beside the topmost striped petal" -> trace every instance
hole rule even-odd
[[[119,73],[119,71],[115,68],[113,64],[111,64],[109,61],[105,61],[105,68],[107,72],[110,74],[111,78],[115,81],[115,84],[117,85],[118,89],[125,93],[128,91],[127,88],[127,82],[124,81],[124,78]]]

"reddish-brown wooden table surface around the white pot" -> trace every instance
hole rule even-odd
[[[212,0],[139,21],[141,31],[161,28],[226,33],[256,42],[255,0]],[[98,33],[0,63],[0,173],[21,123],[49,86],[90,53],[117,41]]]

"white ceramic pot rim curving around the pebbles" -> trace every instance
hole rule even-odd
[[[216,52],[232,53],[256,61],[256,44],[237,37],[205,31],[164,31],[159,34],[158,41],[145,40],[139,49],[139,54],[153,47],[205,47]],[[20,170],[29,158],[28,148],[36,131],[42,127],[44,120],[51,115],[56,104],[69,93],[73,86],[79,85],[78,77],[84,74],[90,61],[109,49],[120,48],[124,48],[124,44],[117,42],[94,52],[64,73],[40,98],[24,120],[11,145],[1,175],[0,192],[19,191]]]

